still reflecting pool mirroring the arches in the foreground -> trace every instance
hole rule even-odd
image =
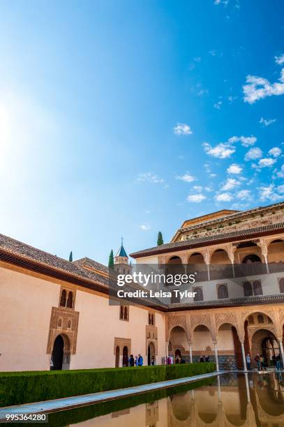
[[[227,373],[181,387],[49,415],[50,426],[284,427],[281,373]]]

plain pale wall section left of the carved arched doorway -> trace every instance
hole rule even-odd
[[[60,286],[0,267],[0,370],[50,369],[50,311]]]

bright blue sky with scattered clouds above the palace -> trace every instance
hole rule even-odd
[[[1,233],[105,263],[121,236],[130,253],[283,200],[282,16],[282,1],[1,1]]]

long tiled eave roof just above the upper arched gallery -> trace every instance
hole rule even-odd
[[[190,248],[199,248],[201,246],[210,246],[225,241],[246,240],[251,237],[260,237],[266,234],[277,234],[279,232],[284,232],[284,223],[262,225],[261,227],[248,228],[246,230],[237,230],[223,234],[213,234],[211,236],[197,237],[196,239],[188,239],[170,244],[154,246],[153,248],[130,253],[130,257],[140,258],[147,255],[158,255],[160,253],[175,252],[176,250],[186,250]]]

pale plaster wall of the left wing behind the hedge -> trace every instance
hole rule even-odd
[[[58,307],[61,284],[0,267],[0,371],[49,370],[47,338],[52,307]],[[119,320],[119,306],[107,297],[77,287],[79,314],[76,354],[70,369],[103,368],[115,364],[114,337],[130,338],[131,352],[146,356],[148,309],[130,306],[129,321]],[[158,356],[165,356],[165,316],[156,312]]]

